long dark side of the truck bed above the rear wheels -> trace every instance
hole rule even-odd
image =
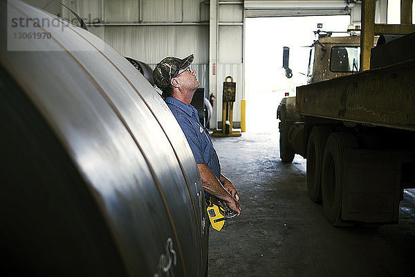
[[[415,131],[415,60],[297,87],[304,116]]]

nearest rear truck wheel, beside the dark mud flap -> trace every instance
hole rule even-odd
[[[357,148],[356,138],[349,133],[331,133],[322,160],[322,199],[324,215],[333,226],[351,226],[341,218],[344,172],[344,150]]]

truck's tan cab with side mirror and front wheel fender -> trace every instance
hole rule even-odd
[[[308,61],[308,84],[321,82],[359,71],[360,36],[332,37],[333,32],[315,31],[317,39],[311,45]],[[284,51],[284,67],[288,57]],[[286,74],[291,78],[289,74]],[[291,73],[292,76],[292,73]],[[304,157],[302,143],[304,118],[295,112],[295,96],[283,98],[277,109],[279,122],[279,154],[283,163],[291,163],[295,154]]]

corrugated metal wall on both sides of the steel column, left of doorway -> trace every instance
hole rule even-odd
[[[50,0],[26,0],[66,19],[71,12]],[[91,33],[104,39],[127,57],[154,67],[163,57],[185,57],[194,53],[194,69],[201,87],[209,91],[210,1],[206,0],[63,0],[89,26]],[[243,98],[243,1],[219,1],[219,50],[216,64],[216,99],[211,126],[222,118],[223,80],[228,75],[237,82],[234,126],[241,120]]]

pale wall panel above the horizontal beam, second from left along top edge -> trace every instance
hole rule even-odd
[[[138,0],[104,0],[105,22],[138,22]]]

